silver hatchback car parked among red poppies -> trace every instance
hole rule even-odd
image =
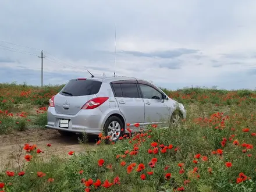
[[[104,133],[116,141],[127,132],[127,123],[131,131],[139,131],[182,118],[186,118],[183,104],[148,81],[90,77],[70,80],[49,99],[46,127],[63,135]]]

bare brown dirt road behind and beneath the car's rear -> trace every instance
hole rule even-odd
[[[20,155],[20,161],[24,161],[26,151],[21,150],[25,143],[36,144],[40,150],[45,151],[41,156],[50,157],[52,154],[64,156],[67,152],[83,152],[88,148],[96,147],[97,136],[88,137],[88,141],[79,144],[79,138],[83,136],[76,135],[63,137],[56,130],[50,129],[29,129],[22,132],[15,132],[8,135],[0,135],[0,172],[8,166],[9,168],[17,166],[17,157]],[[47,144],[51,147],[47,147]]]

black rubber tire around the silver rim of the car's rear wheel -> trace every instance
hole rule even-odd
[[[123,133],[125,132],[124,131],[125,130],[125,125],[124,125],[123,121],[119,117],[117,117],[117,116],[111,116],[111,117],[109,117],[106,120],[105,125],[103,127],[105,136],[108,136],[108,130],[109,130],[108,127],[111,126],[112,122],[118,122],[119,123],[119,125],[120,125],[120,133],[118,134],[118,136],[116,136],[116,134],[115,134],[116,139],[113,139],[112,141],[106,140],[106,144],[118,141],[119,138],[121,136],[123,136]],[[122,129],[123,129],[123,131],[122,131]]]

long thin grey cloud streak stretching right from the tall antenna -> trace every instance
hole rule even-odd
[[[198,50],[196,49],[180,48],[180,49],[173,49],[168,51],[154,51],[149,53],[139,52],[139,51],[120,51],[119,53],[133,55],[133,56],[143,56],[148,58],[170,59],[170,58],[177,58],[182,55],[194,54],[196,52],[198,52]]]

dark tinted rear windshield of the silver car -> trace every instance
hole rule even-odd
[[[93,95],[99,92],[101,81],[93,80],[70,80],[59,94],[66,96],[84,96]]]

